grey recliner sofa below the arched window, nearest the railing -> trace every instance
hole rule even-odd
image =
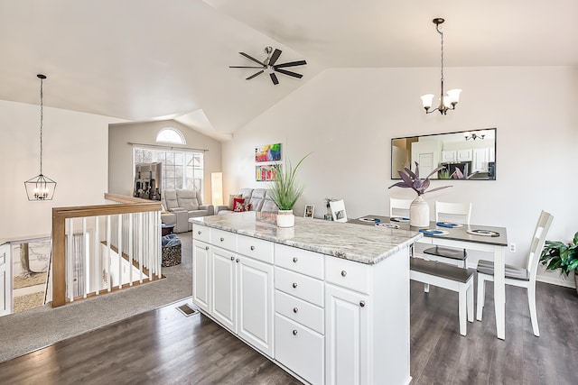
[[[214,215],[212,205],[203,205],[199,190],[176,189],[164,190],[161,195],[163,213],[161,221],[166,225],[173,225],[174,233],[186,233],[192,230],[189,218]]]

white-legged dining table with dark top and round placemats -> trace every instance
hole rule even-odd
[[[496,332],[501,340],[506,339],[506,278],[505,257],[508,248],[508,234],[505,227],[489,225],[461,225],[449,222],[430,222],[427,227],[416,227],[409,218],[382,215],[364,215],[350,219],[350,224],[373,225],[384,230],[415,230],[424,237],[418,243],[438,246],[458,247],[466,250],[490,252],[494,261],[494,310]]]

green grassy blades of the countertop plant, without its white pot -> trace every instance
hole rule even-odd
[[[279,210],[293,210],[297,199],[303,195],[303,186],[299,184],[296,176],[299,166],[309,155],[311,153],[299,160],[295,167],[291,164],[291,160],[286,160],[285,170],[280,165],[275,164],[275,180],[271,182],[269,188],[271,200],[279,207]]]

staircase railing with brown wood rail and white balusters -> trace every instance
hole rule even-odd
[[[105,199],[52,208],[52,307],[162,278],[161,203]]]

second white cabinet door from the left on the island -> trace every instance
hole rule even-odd
[[[237,256],[233,252],[211,246],[210,315],[237,333]]]

